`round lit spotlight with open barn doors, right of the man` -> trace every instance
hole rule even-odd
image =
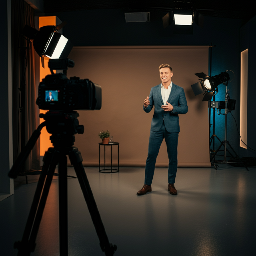
[[[200,78],[199,82],[191,85],[195,96],[204,92],[202,101],[211,100],[212,96],[218,93],[218,85],[221,83],[225,84],[225,82],[229,81],[229,74],[227,71],[221,72],[214,77],[207,76],[203,72],[195,73],[195,75]]]

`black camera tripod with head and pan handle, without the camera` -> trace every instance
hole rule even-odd
[[[49,193],[52,177],[55,167],[59,164],[59,241],[60,256],[68,256],[68,187],[67,187],[67,156],[73,165],[84,199],[87,203],[93,225],[100,240],[100,247],[106,256],[113,256],[116,251],[116,245],[109,243],[105,232],[99,210],[94,200],[90,184],[82,165],[82,156],[77,147],[74,147],[74,134],[82,134],[83,125],[79,125],[77,111],[60,111],[40,114],[45,122],[41,123],[37,130],[31,135],[24,150],[19,154],[12,169],[9,172],[11,178],[16,178],[20,168],[27,159],[30,151],[34,147],[40,131],[44,126],[49,133],[54,147],[48,148],[44,155],[44,164],[40,174],[34,199],[30,208],[28,220],[21,241],[14,243],[14,248],[18,249],[18,256],[29,256],[35,250],[36,236],[38,233],[40,221]],[[46,177],[47,176],[47,177]]]

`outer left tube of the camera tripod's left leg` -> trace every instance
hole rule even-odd
[[[42,189],[43,189],[43,186],[44,186],[46,174],[47,174],[51,159],[52,159],[51,152],[49,152],[49,151],[45,152],[44,160],[43,160],[44,165],[42,167],[42,172],[40,174],[40,177],[39,177],[39,180],[38,180],[38,183],[37,183],[35,195],[34,195],[33,202],[32,202],[32,205],[31,205],[31,208],[30,208],[30,211],[29,211],[29,215],[28,215],[27,223],[26,223],[25,230],[24,230],[24,233],[23,233],[22,241],[21,242],[15,242],[15,245],[14,245],[14,248],[17,248],[19,250],[22,250],[23,247],[28,246],[29,235],[30,235],[30,232],[31,232],[31,229],[32,229],[32,226],[33,226],[33,222],[34,222],[35,215],[36,215],[36,210],[37,210],[37,207],[38,207],[38,204],[39,204],[40,196],[41,196],[41,193],[42,193]],[[34,245],[32,245],[32,246],[34,246]],[[32,249],[32,250],[31,249],[27,252],[27,255],[29,255],[29,253],[31,251],[34,251],[34,249]]]

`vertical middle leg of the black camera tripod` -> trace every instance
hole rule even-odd
[[[67,156],[59,158],[59,232],[60,256],[68,256],[68,182]]]

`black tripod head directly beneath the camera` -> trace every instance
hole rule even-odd
[[[54,147],[72,147],[75,142],[75,134],[83,134],[84,126],[79,125],[77,111],[48,111],[40,114],[46,123],[46,130],[52,134],[51,143]]]

